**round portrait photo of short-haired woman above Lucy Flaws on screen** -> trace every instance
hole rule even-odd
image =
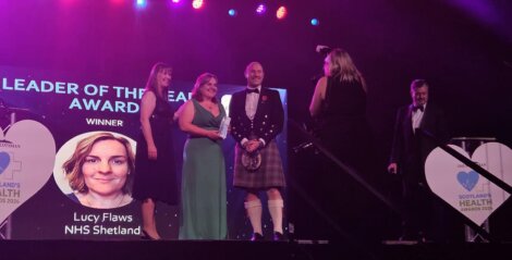
[[[70,147],[70,144],[66,144]],[[61,151],[59,151],[61,153]],[[62,152],[58,158],[64,158]],[[120,208],[132,202],[134,152],[130,140],[109,132],[81,138],[61,165],[65,183],[60,186],[73,201],[94,209]],[[68,153],[69,154],[69,153]]]

